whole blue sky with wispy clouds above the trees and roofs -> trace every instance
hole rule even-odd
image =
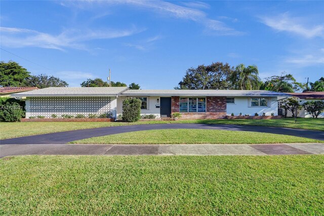
[[[323,1],[1,1],[1,60],[70,86],[177,86],[189,67],[255,64],[262,79],[324,76]],[[42,65],[42,66],[39,66]]]

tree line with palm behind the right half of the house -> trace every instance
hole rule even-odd
[[[310,83],[308,91],[324,91],[324,78]],[[296,81],[291,74],[281,73],[263,82],[256,65],[239,64],[231,67],[228,63],[216,62],[187,69],[185,76],[175,89],[239,89],[269,90],[276,92],[305,91],[306,84]]]

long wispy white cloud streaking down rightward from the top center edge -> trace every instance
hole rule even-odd
[[[72,3],[63,3],[66,7],[73,7],[78,9],[89,10],[89,8],[94,8],[95,5],[99,7],[104,7],[104,5],[130,5],[134,7],[139,7],[142,9],[148,9],[155,13],[165,14],[168,17],[175,17],[178,19],[192,20],[194,22],[204,25],[208,30],[207,33],[213,33],[217,35],[241,35],[242,32],[237,31],[224,22],[210,19],[207,14],[196,8],[188,8],[179,6],[170,2],[163,1],[77,1]],[[193,4],[193,3],[191,3]],[[204,3],[195,2],[195,5],[204,5]],[[86,7],[87,6],[87,7]]]

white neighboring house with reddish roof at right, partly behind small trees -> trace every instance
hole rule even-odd
[[[300,104],[303,104],[307,101],[315,101],[320,100],[324,101],[324,92],[317,92],[317,91],[306,91],[303,93],[287,93],[289,97],[297,97],[301,100]],[[279,108],[279,115],[285,115],[285,109],[282,107],[282,101],[287,97],[278,97],[278,108]],[[287,117],[292,117],[292,113],[290,111],[287,112]],[[309,113],[305,112],[304,108],[298,111],[298,117],[301,118],[313,118]],[[318,118],[324,118],[324,113],[319,114]]]

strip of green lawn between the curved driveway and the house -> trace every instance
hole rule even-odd
[[[61,132],[87,128],[110,127],[137,124],[166,124],[166,123],[205,123],[205,124],[237,124],[237,125],[262,125],[273,127],[291,127],[311,130],[324,130],[324,119],[236,119],[236,120],[179,120],[179,121],[146,121],[146,122],[13,122],[0,123],[0,138],[12,138],[43,133]]]

